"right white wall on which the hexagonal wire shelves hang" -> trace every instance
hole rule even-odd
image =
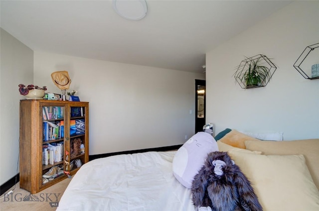
[[[319,1],[295,1],[207,52],[206,122],[215,124],[215,134],[229,127],[282,131],[285,140],[319,138],[319,79],[304,79],[293,67],[307,46],[319,43],[318,11]],[[257,54],[273,58],[278,69],[266,87],[241,89],[235,67]]]

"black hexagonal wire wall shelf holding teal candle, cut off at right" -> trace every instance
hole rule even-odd
[[[317,53],[317,54],[316,54]],[[313,61],[309,63],[309,61],[306,60],[306,58],[308,57],[308,60],[311,60],[309,59],[309,55],[311,55],[313,57]],[[307,62],[308,63],[307,63]],[[302,64],[305,64],[302,66]],[[305,67],[307,66],[308,67]],[[316,43],[314,45],[310,45],[310,46],[307,46],[305,48],[305,50],[303,51],[303,53],[299,56],[299,58],[297,59],[297,61],[295,62],[294,64],[294,67],[296,68],[296,70],[305,78],[305,79],[319,79],[319,75],[316,74],[315,71],[317,71],[317,66],[319,65],[319,43]],[[303,70],[303,69],[304,70]],[[314,69],[316,68],[315,70],[312,70],[312,75],[311,77],[308,76],[310,72],[310,69]],[[308,70],[307,70],[308,69]],[[306,73],[308,72],[308,74]]]

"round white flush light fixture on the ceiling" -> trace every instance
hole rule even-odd
[[[125,19],[140,20],[145,17],[148,6],[145,0],[113,0],[113,9]]]

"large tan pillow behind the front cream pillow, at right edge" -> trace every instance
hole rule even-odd
[[[310,174],[319,190],[319,139],[295,141],[246,141],[249,150],[265,155],[304,155]]]

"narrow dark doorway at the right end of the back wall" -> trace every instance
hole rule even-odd
[[[203,131],[206,116],[206,81],[195,80],[195,133]]]

